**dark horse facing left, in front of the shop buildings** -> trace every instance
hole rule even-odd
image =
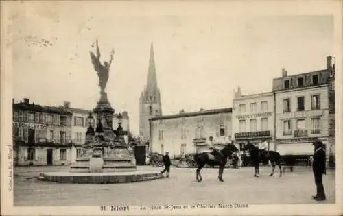
[[[279,152],[275,151],[267,151],[268,154],[265,154],[263,150],[259,149],[255,145],[252,145],[252,143],[247,143],[244,145],[244,150],[248,149],[250,153],[250,158],[252,160],[252,164],[254,165],[255,168],[255,174],[254,177],[259,177],[259,163],[262,160],[263,162],[268,162],[272,164],[272,173],[270,173],[270,176],[274,175],[275,172],[275,165],[279,166],[280,169],[280,176],[282,176],[282,170],[281,170],[281,156]]]

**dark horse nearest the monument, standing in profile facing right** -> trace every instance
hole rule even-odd
[[[202,181],[202,176],[200,174],[200,170],[204,167],[204,165],[208,164],[210,166],[218,166],[219,165],[219,175],[218,179],[220,182],[224,182],[223,180],[223,171],[226,163],[228,162],[228,156],[230,156],[233,152],[238,152],[238,149],[232,143],[228,143],[222,150],[222,156],[218,156],[215,158],[213,152],[202,152],[194,155],[194,160],[197,163],[196,169],[196,180],[198,182]]]

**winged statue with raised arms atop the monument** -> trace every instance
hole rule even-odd
[[[112,49],[111,53],[110,53],[110,61],[109,62],[104,62],[104,64],[102,64],[102,62],[100,62],[100,51],[99,51],[99,45],[98,42],[96,41],[96,55],[95,53],[93,53],[93,51],[90,52],[91,53],[91,59],[92,59],[92,64],[94,66],[95,71],[97,71],[97,76],[99,77],[99,87],[100,87],[100,94],[104,95],[105,93],[105,88],[106,88],[106,84],[108,82],[108,73],[110,72],[110,64],[113,61],[113,55],[115,54],[115,51]]]

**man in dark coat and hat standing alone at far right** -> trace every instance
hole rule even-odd
[[[312,162],[312,169],[314,171],[314,182],[317,187],[317,194],[312,196],[314,200],[323,201],[326,200],[324,186],[322,184],[322,175],[326,174],[325,169],[325,146],[320,141],[317,140],[314,144],[314,157]]]

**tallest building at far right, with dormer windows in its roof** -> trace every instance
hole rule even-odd
[[[329,144],[329,77],[332,58],[327,69],[287,75],[273,80],[276,97],[276,145],[280,154],[310,156],[312,143],[320,139]]]

